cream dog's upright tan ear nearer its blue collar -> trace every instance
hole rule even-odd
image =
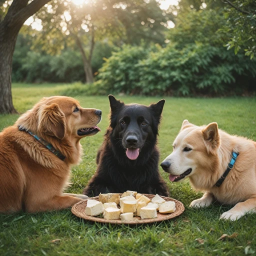
[[[218,124],[216,122],[209,123],[202,129],[202,135],[207,153],[216,154],[216,149],[220,145]]]

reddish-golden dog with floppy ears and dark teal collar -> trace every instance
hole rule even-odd
[[[96,134],[101,110],[65,96],[44,97],[0,132],[0,212],[67,208],[85,195],[63,193],[80,139]]]

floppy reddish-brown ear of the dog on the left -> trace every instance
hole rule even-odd
[[[38,129],[47,135],[63,139],[65,136],[65,115],[56,103],[46,105],[40,111]]]

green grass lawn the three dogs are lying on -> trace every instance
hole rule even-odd
[[[13,102],[20,112],[32,107],[42,96],[63,94],[71,85],[13,84]],[[116,95],[118,97],[118,95]],[[81,140],[82,162],[72,168],[68,192],[81,193],[96,169],[95,157],[108,125],[107,96],[75,96],[83,107],[102,110],[101,132]],[[125,103],[149,104],[160,97],[121,96]],[[172,98],[165,97],[158,145],[160,160],[172,150],[183,119],[197,125],[216,121],[221,129],[256,140],[256,98]],[[18,115],[1,115],[0,130],[12,125]],[[256,155],[255,155],[256,157]],[[185,205],[179,217],[150,225],[97,224],[72,215],[70,209],[44,213],[0,214],[0,255],[243,255],[256,251],[256,214],[230,222],[219,220],[231,206],[214,203],[206,209],[188,205],[201,193],[188,181],[170,183],[170,196]],[[222,234],[230,238],[219,239]],[[52,242],[54,239],[60,239]],[[197,240],[196,240],[197,239]],[[198,240],[201,239],[201,240]]]

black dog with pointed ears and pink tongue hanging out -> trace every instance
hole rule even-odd
[[[156,147],[164,99],[149,106],[128,104],[109,95],[110,125],[97,154],[97,171],[83,194],[124,192],[168,195],[158,172]]]

